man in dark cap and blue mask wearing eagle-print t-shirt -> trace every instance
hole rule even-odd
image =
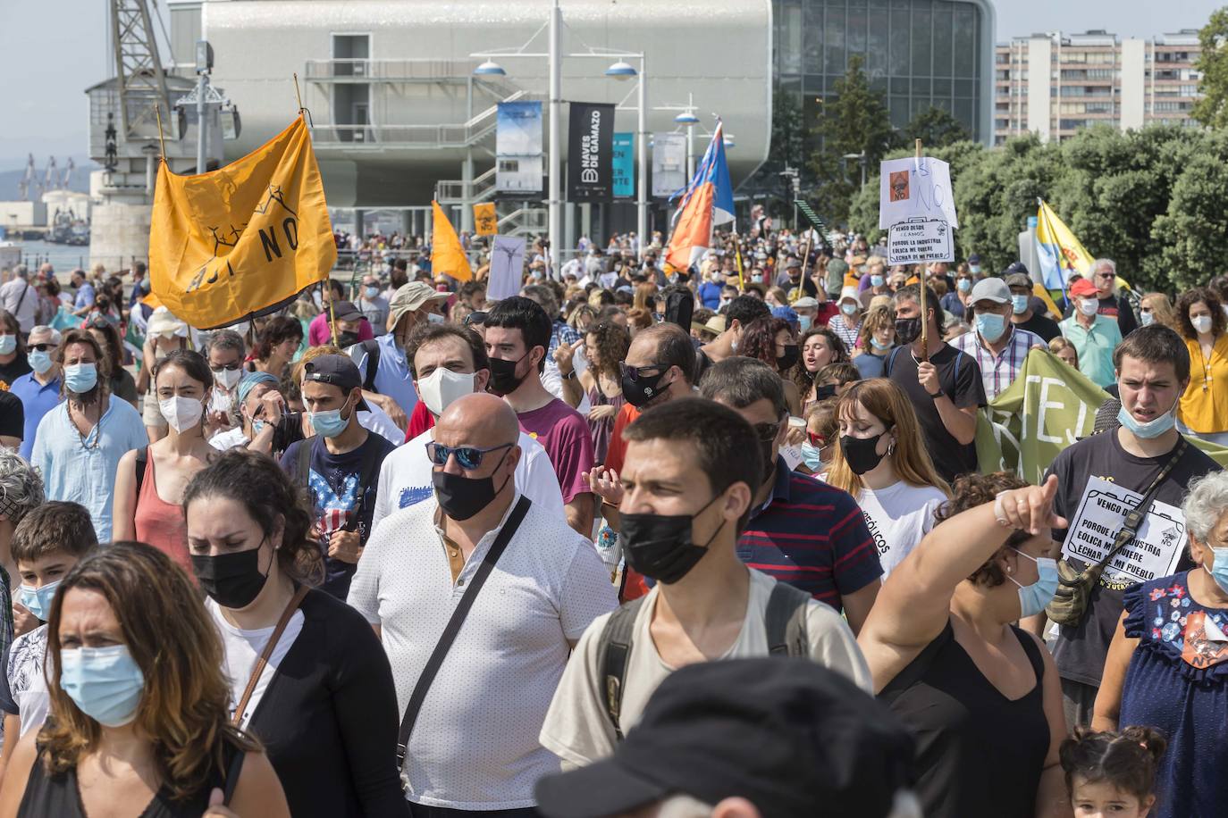
[[[303,405],[314,434],[292,443],[281,468],[312,497],[314,529],[324,549],[322,590],[344,600],[375,514],[376,476],[393,444],[359,423],[370,411],[362,378],[343,354],[303,365]]]

